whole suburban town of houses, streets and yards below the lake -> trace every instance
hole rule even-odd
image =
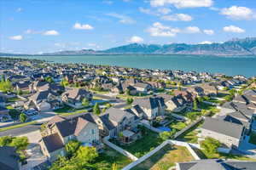
[[[0,58],[2,170],[255,170],[256,77]]]

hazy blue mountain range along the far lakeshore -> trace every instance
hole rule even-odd
[[[82,55],[82,54],[197,54],[197,55],[256,55],[256,37],[232,39],[211,44],[172,43],[166,45],[131,43],[106,50],[69,50],[42,55]],[[11,55],[11,54],[1,54]]]

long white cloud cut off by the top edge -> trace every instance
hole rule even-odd
[[[160,7],[166,4],[172,4],[176,8],[199,8],[211,7],[212,0],[150,0],[150,5],[153,7]]]

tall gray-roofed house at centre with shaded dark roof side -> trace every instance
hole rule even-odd
[[[132,103],[133,107],[136,105],[143,111],[143,118],[148,120],[166,113],[165,100],[161,97],[138,98]]]

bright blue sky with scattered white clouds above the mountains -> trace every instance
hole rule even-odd
[[[212,43],[256,37],[256,0],[0,0],[0,51]]]

